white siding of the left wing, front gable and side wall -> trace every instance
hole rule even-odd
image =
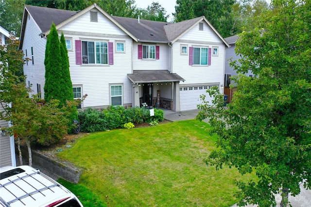
[[[65,38],[72,41],[72,50],[68,51],[70,78],[74,86],[82,86],[83,95],[87,94],[83,108],[86,107],[106,107],[110,105],[109,84],[120,84],[123,89],[123,104],[132,104],[132,83],[127,78],[127,74],[132,73],[132,39],[120,28],[114,25],[104,15],[98,12],[98,22],[90,22],[89,12],[79,16],[59,28],[58,33],[64,32]],[[36,27],[33,19],[27,20],[23,50],[27,49],[28,57],[31,56],[31,47],[34,48],[35,65],[30,61],[24,65],[24,72],[28,80],[33,84],[32,89],[36,93],[36,84],[41,85],[42,97],[44,97],[45,82],[45,47],[46,39],[38,34],[41,31]],[[88,41],[108,41],[114,44],[114,64],[76,64],[75,40]],[[125,52],[115,51],[116,41],[125,43]]]

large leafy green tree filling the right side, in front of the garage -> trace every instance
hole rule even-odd
[[[207,163],[235,166],[241,174],[256,171],[258,181],[238,182],[239,205],[275,205],[280,192],[297,195],[299,183],[311,180],[311,1],[274,0],[273,11],[259,26],[242,32],[236,44],[241,73],[227,110],[216,96],[215,107],[203,102],[198,118],[209,118],[219,136]],[[256,77],[242,75],[251,70]],[[217,105],[218,104],[218,105]]]

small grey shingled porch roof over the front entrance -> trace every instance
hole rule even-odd
[[[127,74],[127,77],[134,84],[185,81],[176,73],[171,73],[168,70],[134,70],[133,74]]]

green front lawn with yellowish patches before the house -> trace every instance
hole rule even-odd
[[[84,168],[80,184],[110,207],[228,207],[235,181],[249,177],[205,164],[216,141],[207,131],[187,120],[98,132],[59,156]]]

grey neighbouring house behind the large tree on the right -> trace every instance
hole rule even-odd
[[[232,100],[232,96],[234,94],[234,91],[236,90],[236,87],[233,87],[230,89],[230,84],[235,85],[234,81],[230,80],[231,76],[238,75],[237,71],[233,69],[229,65],[230,62],[239,60],[240,57],[236,55],[235,53],[235,42],[239,39],[238,35],[233,35],[231,37],[226,37],[225,41],[230,45],[230,48],[226,48],[225,50],[225,89],[224,94],[228,95],[227,102],[230,103]],[[246,76],[253,77],[254,74],[251,71],[248,71],[248,73],[245,74]]]

